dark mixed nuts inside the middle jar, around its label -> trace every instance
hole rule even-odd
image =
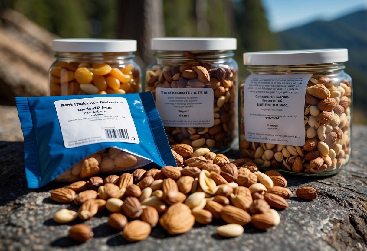
[[[237,135],[237,70],[232,63],[207,63],[199,54],[186,52],[186,59],[163,62],[146,71],[145,90],[156,88],[213,89],[212,127],[165,127],[171,145],[185,143],[219,152],[228,150]],[[155,96],[156,97],[156,96]]]

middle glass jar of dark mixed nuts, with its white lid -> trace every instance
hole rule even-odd
[[[145,72],[171,145],[224,152],[237,138],[236,38],[153,38]]]

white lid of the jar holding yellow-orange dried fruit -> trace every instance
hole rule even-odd
[[[52,41],[55,52],[135,52],[133,39],[61,38]]]

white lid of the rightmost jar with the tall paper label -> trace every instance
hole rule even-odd
[[[245,65],[328,64],[348,61],[348,49],[274,50],[243,53]]]

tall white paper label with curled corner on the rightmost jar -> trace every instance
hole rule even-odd
[[[304,105],[312,74],[251,74],[244,87],[245,136],[249,142],[303,146]]]

